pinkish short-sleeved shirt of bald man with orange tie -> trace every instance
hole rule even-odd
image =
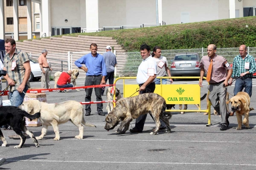
[[[207,74],[210,63],[211,63],[211,58],[208,56],[204,56],[201,59],[199,68],[204,68]],[[227,70],[230,70],[230,69],[231,69],[231,66],[227,62],[227,59],[225,59],[222,56],[215,55],[215,57],[212,58],[212,75],[209,82],[217,83],[225,80],[227,78]]]

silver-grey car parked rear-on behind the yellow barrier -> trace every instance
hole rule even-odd
[[[198,68],[201,57],[198,53],[177,53],[172,60],[171,74],[173,77],[200,76]]]

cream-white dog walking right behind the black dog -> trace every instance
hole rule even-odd
[[[54,140],[60,140],[58,125],[69,120],[79,128],[79,135],[75,136],[76,139],[83,139],[83,125],[96,127],[95,125],[85,122],[83,116],[83,106],[79,102],[73,100],[56,104],[48,104],[45,102],[40,102],[39,100],[27,100],[24,101],[19,108],[31,115],[37,112],[41,113],[41,117],[39,119],[43,125],[43,128],[41,136],[36,137],[38,140],[43,139],[43,137],[46,135],[48,126],[53,127],[55,132]]]

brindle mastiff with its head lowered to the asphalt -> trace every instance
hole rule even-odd
[[[140,115],[150,113],[154,117],[156,123],[156,129],[151,132],[150,135],[156,135],[160,128],[159,119],[167,126],[167,133],[171,133],[171,127],[169,125],[169,119],[172,117],[170,112],[165,112],[166,101],[165,99],[155,93],[140,94],[134,97],[122,98],[116,102],[116,107],[108,113],[105,119],[106,130],[112,130],[120,121],[119,128],[116,133],[123,134],[128,130],[130,122],[136,119]],[[166,116],[167,115],[167,116]]]

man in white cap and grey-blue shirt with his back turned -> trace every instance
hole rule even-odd
[[[109,82],[110,85],[114,83],[114,72],[116,67],[116,56],[111,52],[111,46],[106,47],[106,53],[103,54],[105,65],[107,68],[107,76],[105,77],[105,82]],[[101,95],[104,95],[105,88],[102,88]]]

